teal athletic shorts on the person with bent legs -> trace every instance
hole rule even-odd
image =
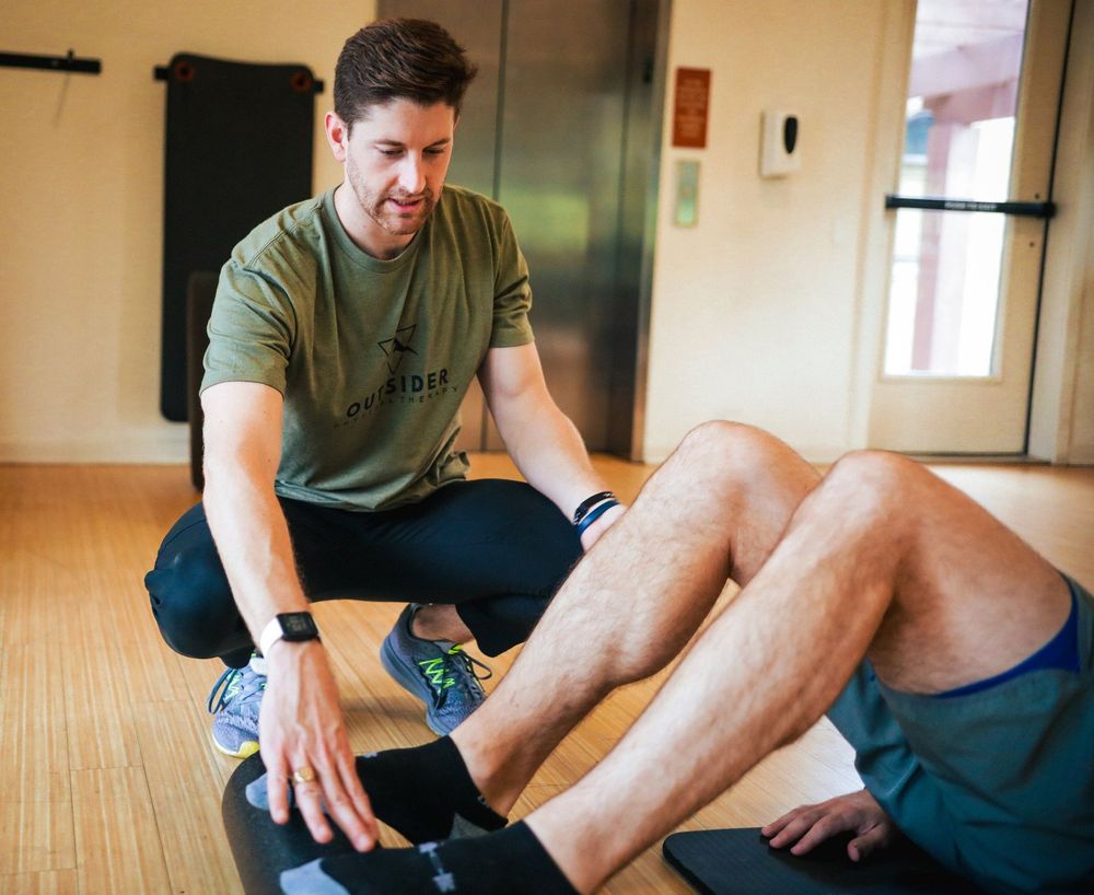
[[[897,826],[1000,895],[1094,893],[1094,596],[1064,578],[1078,671],[939,698],[886,687],[863,662],[828,711]]]

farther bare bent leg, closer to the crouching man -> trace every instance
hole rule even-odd
[[[749,427],[707,423],[684,440],[562,585],[505,679],[452,734],[494,810],[512,807],[612,689],[676,656],[728,578],[752,580],[818,479]]]

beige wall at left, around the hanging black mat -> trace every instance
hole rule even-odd
[[[321,113],[342,40],[373,15],[371,0],[0,3],[4,50],[103,60],[98,77],[0,69],[0,460],[187,455],[186,427],[159,411],[166,88],[152,69],[181,50],[304,62],[327,82]],[[340,172],[319,118],[325,188]]]

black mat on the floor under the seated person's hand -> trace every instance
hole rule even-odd
[[[795,858],[773,849],[758,827],[675,833],[662,852],[702,895],[982,895],[910,844],[856,863],[848,837]]]

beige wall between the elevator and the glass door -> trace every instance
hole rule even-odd
[[[674,3],[670,65],[712,70],[711,108],[706,150],[673,149],[670,135],[664,147],[649,458],[714,417],[768,428],[817,458],[851,443],[859,246],[887,4]],[[899,50],[889,56],[904,65]],[[672,80],[668,94],[666,116]],[[783,179],[758,175],[769,107],[801,120],[802,166]],[[675,167],[686,158],[701,163],[694,229],[672,222]]]

